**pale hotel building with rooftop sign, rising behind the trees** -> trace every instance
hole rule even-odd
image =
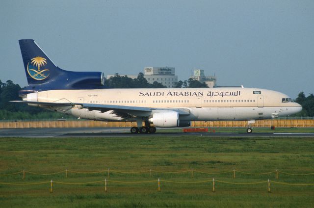
[[[137,75],[120,75],[120,76],[137,78]],[[110,77],[114,77],[114,75],[107,75],[107,79]],[[168,88],[175,87],[176,82],[178,82],[178,76],[175,75],[174,67],[145,67],[144,78],[146,78],[146,80],[150,84],[153,84],[154,81],[157,81]]]

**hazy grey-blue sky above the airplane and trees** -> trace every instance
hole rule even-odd
[[[218,85],[314,93],[314,0],[1,0],[0,79],[26,86],[19,39],[60,68],[215,74]]]

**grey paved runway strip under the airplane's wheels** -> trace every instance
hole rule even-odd
[[[159,132],[158,132],[159,131]],[[0,129],[0,137],[129,137],[129,136],[209,136],[209,137],[314,137],[314,133],[183,133],[162,132],[154,134],[131,134],[130,128],[41,128],[41,129]],[[178,130],[173,130],[178,131]]]

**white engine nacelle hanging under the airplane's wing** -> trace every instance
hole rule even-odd
[[[153,117],[149,119],[155,127],[179,127],[179,113],[176,111],[167,111],[154,113]]]

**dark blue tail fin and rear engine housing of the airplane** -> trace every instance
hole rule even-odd
[[[24,91],[105,88],[104,73],[60,69],[34,40],[19,40],[28,86]]]

